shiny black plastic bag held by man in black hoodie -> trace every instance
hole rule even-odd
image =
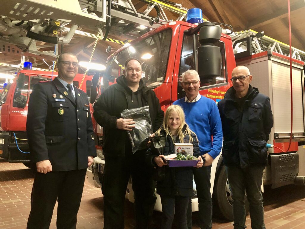
[[[122,118],[132,118],[135,127],[127,131],[131,141],[132,153],[138,150],[147,149],[149,136],[152,134],[152,121],[149,115],[149,106],[126,109],[121,113]]]

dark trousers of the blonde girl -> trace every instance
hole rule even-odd
[[[162,226],[161,229],[171,229],[176,216],[176,229],[187,229],[186,212],[189,197],[161,195]]]

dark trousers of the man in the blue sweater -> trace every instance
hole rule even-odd
[[[212,195],[211,189],[211,165],[200,168],[193,168],[194,180],[196,184],[198,207],[199,207],[199,227],[201,229],[212,228]],[[188,229],[192,229],[192,199],[189,199]]]

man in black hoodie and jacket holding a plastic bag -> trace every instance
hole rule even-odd
[[[127,131],[135,127],[132,119],[121,118],[125,109],[149,106],[153,132],[162,125],[164,112],[156,94],[145,86],[142,64],[135,58],[125,62],[124,76],[109,86],[94,105],[94,118],[103,127],[105,168],[102,182],[104,195],[104,229],[124,228],[124,199],[129,177],[135,193],[136,227],[148,228],[156,202],[155,183],[145,151],[132,153]]]

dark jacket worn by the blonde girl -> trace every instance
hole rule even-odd
[[[162,141],[166,138],[165,147],[161,150],[148,150],[146,152],[146,161],[151,167],[156,167],[156,169],[162,169],[163,179],[157,181],[157,193],[165,196],[179,195],[179,196],[193,196],[193,169],[192,167],[168,167],[162,166],[158,167],[154,161],[154,157],[162,155],[174,154],[174,143],[172,138],[167,135],[164,130],[160,132],[160,136],[155,136],[153,141]],[[192,134],[194,155],[200,155],[199,145],[197,137]],[[180,143],[177,137],[175,143]],[[189,136],[186,135],[184,138],[184,143],[189,143]]]

